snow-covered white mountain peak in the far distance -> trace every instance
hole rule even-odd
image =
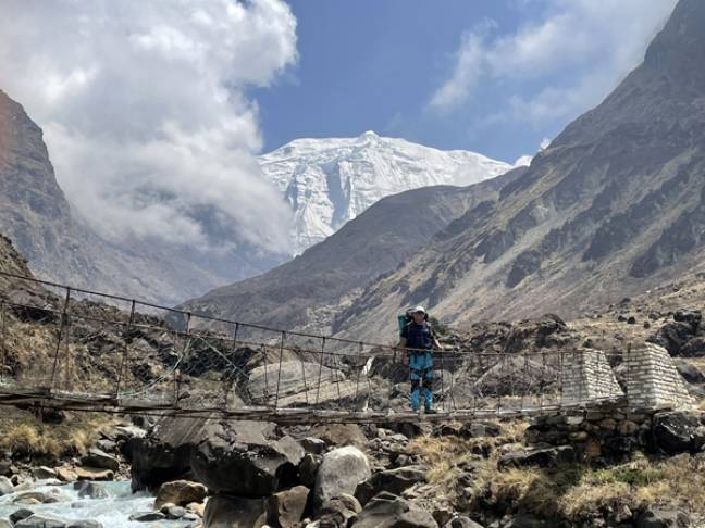
[[[297,139],[259,161],[294,209],[299,252],[386,196],[435,185],[467,186],[511,168],[474,152],[441,151],[373,131],[357,138]]]

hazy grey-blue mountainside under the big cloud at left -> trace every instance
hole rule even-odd
[[[0,91],[0,232],[40,277],[175,304],[281,262],[219,260],[159,241],[110,243],[72,216],[41,129]],[[245,252],[244,252],[245,253]]]

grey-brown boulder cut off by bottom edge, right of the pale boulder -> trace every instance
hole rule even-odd
[[[437,528],[433,516],[408,501],[382,492],[352,521],[355,528]]]

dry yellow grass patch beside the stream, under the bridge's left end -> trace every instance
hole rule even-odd
[[[45,424],[29,412],[3,408],[0,449],[32,458],[82,455],[113,422],[104,415],[76,414],[61,424]]]

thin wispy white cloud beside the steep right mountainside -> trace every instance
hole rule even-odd
[[[466,103],[481,81],[514,83],[517,93],[503,113],[510,111],[512,118],[534,123],[573,116],[599,102],[643,59],[677,0],[547,3],[537,22],[512,34],[488,33],[485,25],[463,35],[453,72],[429,106],[448,112]],[[566,72],[573,81],[554,84]],[[521,93],[531,90],[523,81],[536,79],[545,88]]]

